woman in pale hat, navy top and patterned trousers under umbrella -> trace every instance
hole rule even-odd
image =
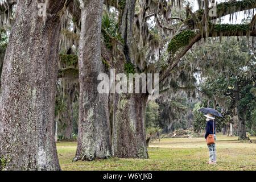
[[[207,119],[207,126],[205,127],[205,136],[204,138],[207,139],[208,135],[214,135],[214,141],[216,140],[216,125],[214,122],[214,117],[212,114],[205,114],[204,115]],[[216,161],[216,144],[208,144],[209,148],[209,162],[208,164],[217,164]]]

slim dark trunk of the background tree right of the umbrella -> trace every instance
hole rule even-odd
[[[245,119],[243,117],[243,111],[238,109],[238,102],[240,101],[240,88],[238,81],[235,84],[235,101],[236,101],[236,113],[238,116],[238,137],[239,139],[246,139],[246,126]]]

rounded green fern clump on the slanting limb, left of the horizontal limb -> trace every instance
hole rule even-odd
[[[185,30],[174,36],[171,42],[168,44],[168,52],[173,54],[179,48],[186,46],[189,44],[189,41],[195,37],[196,34],[192,30]]]

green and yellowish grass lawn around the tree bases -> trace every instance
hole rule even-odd
[[[58,142],[57,151],[63,170],[256,170],[256,143],[241,143],[237,137],[218,135],[216,146],[218,164],[214,166],[206,164],[208,148],[204,138],[168,138],[151,142],[150,159],[72,162],[75,142]]]

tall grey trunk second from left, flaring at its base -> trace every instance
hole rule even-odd
[[[111,156],[108,94],[97,92],[104,72],[101,61],[101,16],[103,0],[81,1],[79,55],[79,137],[74,160],[105,159]]]

